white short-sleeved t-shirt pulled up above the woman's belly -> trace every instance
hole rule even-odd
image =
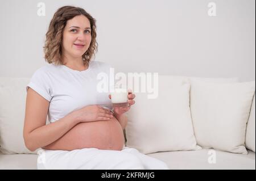
[[[88,105],[98,104],[112,110],[109,92],[98,92],[98,73],[106,73],[110,78],[109,64],[90,61],[89,68],[73,70],[65,65],[48,64],[32,75],[28,87],[49,101],[48,120],[57,121],[68,113]],[[110,82],[110,81],[109,81]],[[109,82],[106,82],[109,85]]]

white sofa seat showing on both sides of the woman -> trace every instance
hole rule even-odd
[[[215,153],[214,153],[215,151]],[[196,151],[166,151],[147,154],[165,162],[169,169],[254,169],[255,153],[234,154],[203,149]],[[210,157],[216,155],[216,162]],[[0,154],[1,169],[36,169],[36,154]],[[210,159],[209,159],[210,158]],[[210,160],[210,162],[208,162]]]

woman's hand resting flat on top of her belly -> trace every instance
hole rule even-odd
[[[75,113],[79,122],[108,121],[113,117],[113,113],[110,110],[98,105],[85,106],[80,110],[76,110]]]

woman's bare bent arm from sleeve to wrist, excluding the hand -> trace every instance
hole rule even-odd
[[[48,100],[31,88],[27,90],[23,138],[31,151],[51,144],[79,123],[76,112],[71,112],[55,123],[46,125],[48,107]]]

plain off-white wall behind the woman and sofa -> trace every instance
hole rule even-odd
[[[38,16],[38,3],[46,16]],[[209,16],[209,2],[216,16]],[[255,0],[1,1],[0,77],[31,77],[48,64],[49,22],[64,5],[97,20],[98,53],[115,73],[255,80]]]

